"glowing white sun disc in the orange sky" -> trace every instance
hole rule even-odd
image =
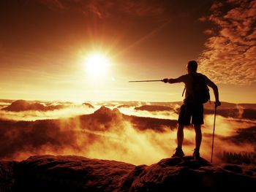
[[[91,77],[102,77],[108,72],[108,58],[101,53],[93,53],[86,58],[86,72]]]

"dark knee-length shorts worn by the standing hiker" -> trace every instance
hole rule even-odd
[[[203,124],[203,104],[185,103],[181,105],[178,115],[178,124],[189,126],[192,118],[192,124]]]

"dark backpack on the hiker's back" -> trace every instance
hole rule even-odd
[[[200,74],[189,74],[192,75],[193,77],[193,82],[192,82],[192,86],[193,86],[193,96],[192,96],[192,100],[194,103],[196,104],[204,104],[207,101],[210,101],[210,93],[209,93],[209,88],[207,86],[206,83],[206,79],[201,76]],[[186,88],[184,88],[185,91]],[[184,93],[183,91],[183,93]],[[182,93],[182,96],[183,96]]]

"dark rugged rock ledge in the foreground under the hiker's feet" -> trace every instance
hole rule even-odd
[[[1,162],[0,191],[217,191],[256,187],[256,166],[166,158],[151,166],[80,156]]]

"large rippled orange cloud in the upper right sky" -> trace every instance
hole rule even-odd
[[[212,36],[198,58],[200,71],[217,83],[251,85],[256,82],[256,1],[214,3],[211,10],[200,18],[216,26],[205,32]]]

